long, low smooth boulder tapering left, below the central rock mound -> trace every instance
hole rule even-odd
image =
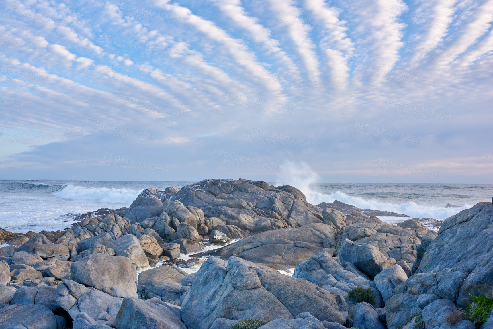
[[[322,252],[333,255],[337,231],[323,223],[267,231],[249,236],[205,255],[228,259],[238,256],[275,269],[295,268],[303,260]]]

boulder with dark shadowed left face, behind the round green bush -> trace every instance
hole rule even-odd
[[[349,239],[339,250],[339,261],[353,263],[361,272],[373,279],[380,272],[380,265],[387,260],[377,247],[365,243],[352,242]]]

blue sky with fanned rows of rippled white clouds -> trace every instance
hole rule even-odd
[[[0,179],[493,183],[493,0],[0,1]]]

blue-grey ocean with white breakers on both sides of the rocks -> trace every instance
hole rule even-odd
[[[19,233],[63,230],[75,222],[68,214],[128,207],[144,188],[164,190],[167,186],[182,187],[190,183],[194,182],[0,181],[0,227]],[[270,184],[297,187],[312,204],[339,200],[358,208],[433,219],[447,219],[478,202],[489,202],[493,196],[493,184],[316,183],[299,180]],[[447,203],[459,207],[445,208]]]

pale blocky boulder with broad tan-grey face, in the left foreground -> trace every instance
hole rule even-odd
[[[123,296],[137,296],[135,264],[127,257],[91,254],[70,267],[73,281],[101,291],[118,290]]]

